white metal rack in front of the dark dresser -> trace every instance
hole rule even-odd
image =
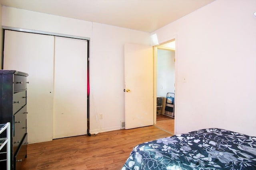
[[[6,137],[0,138],[0,154],[6,154],[6,159],[0,161],[6,161],[6,170],[10,170],[10,123],[0,124],[0,134],[6,130]],[[6,152],[1,152],[2,148],[6,145]]]

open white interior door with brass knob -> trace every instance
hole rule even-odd
[[[153,49],[148,45],[124,45],[125,129],[153,125]]]

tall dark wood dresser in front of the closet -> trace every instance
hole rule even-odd
[[[10,167],[13,170],[19,170],[27,156],[27,76],[25,72],[0,70],[0,124],[10,122]],[[4,151],[6,148],[1,150]],[[6,154],[0,154],[1,159],[4,156]],[[6,169],[6,161],[1,161],[0,167]]]

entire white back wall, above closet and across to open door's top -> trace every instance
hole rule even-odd
[[[5,6],[2,25],[89,37],[90,133],[120,129],[124,120],[124,43],[150,45],[149,33]],[[99,113],[103,119],[97,119]]]

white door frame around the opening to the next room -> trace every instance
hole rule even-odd
[[[177,94],[178,94],[178,81],[177,81],[177,73],[178,73],[178,69],[177,69],[177,63],[178,63],[178,51],[177,51],[177,35],[168,38],[166,41],[163,41],[162,43],[158,44],[158,45],[154,45],[153,49],[154,49],[154,125],[156,124],[156,90],[157,90],[157,49],[158,46],[166,44],[166,43],[170,43],[172,41],[175,41],[175,96],[174,96],[174,102],[175,102],[175,109],[174,109],[174,135],[176,135],[176,127],[177,127],[177,104],[178,104],[178,100],[177,100]]]

